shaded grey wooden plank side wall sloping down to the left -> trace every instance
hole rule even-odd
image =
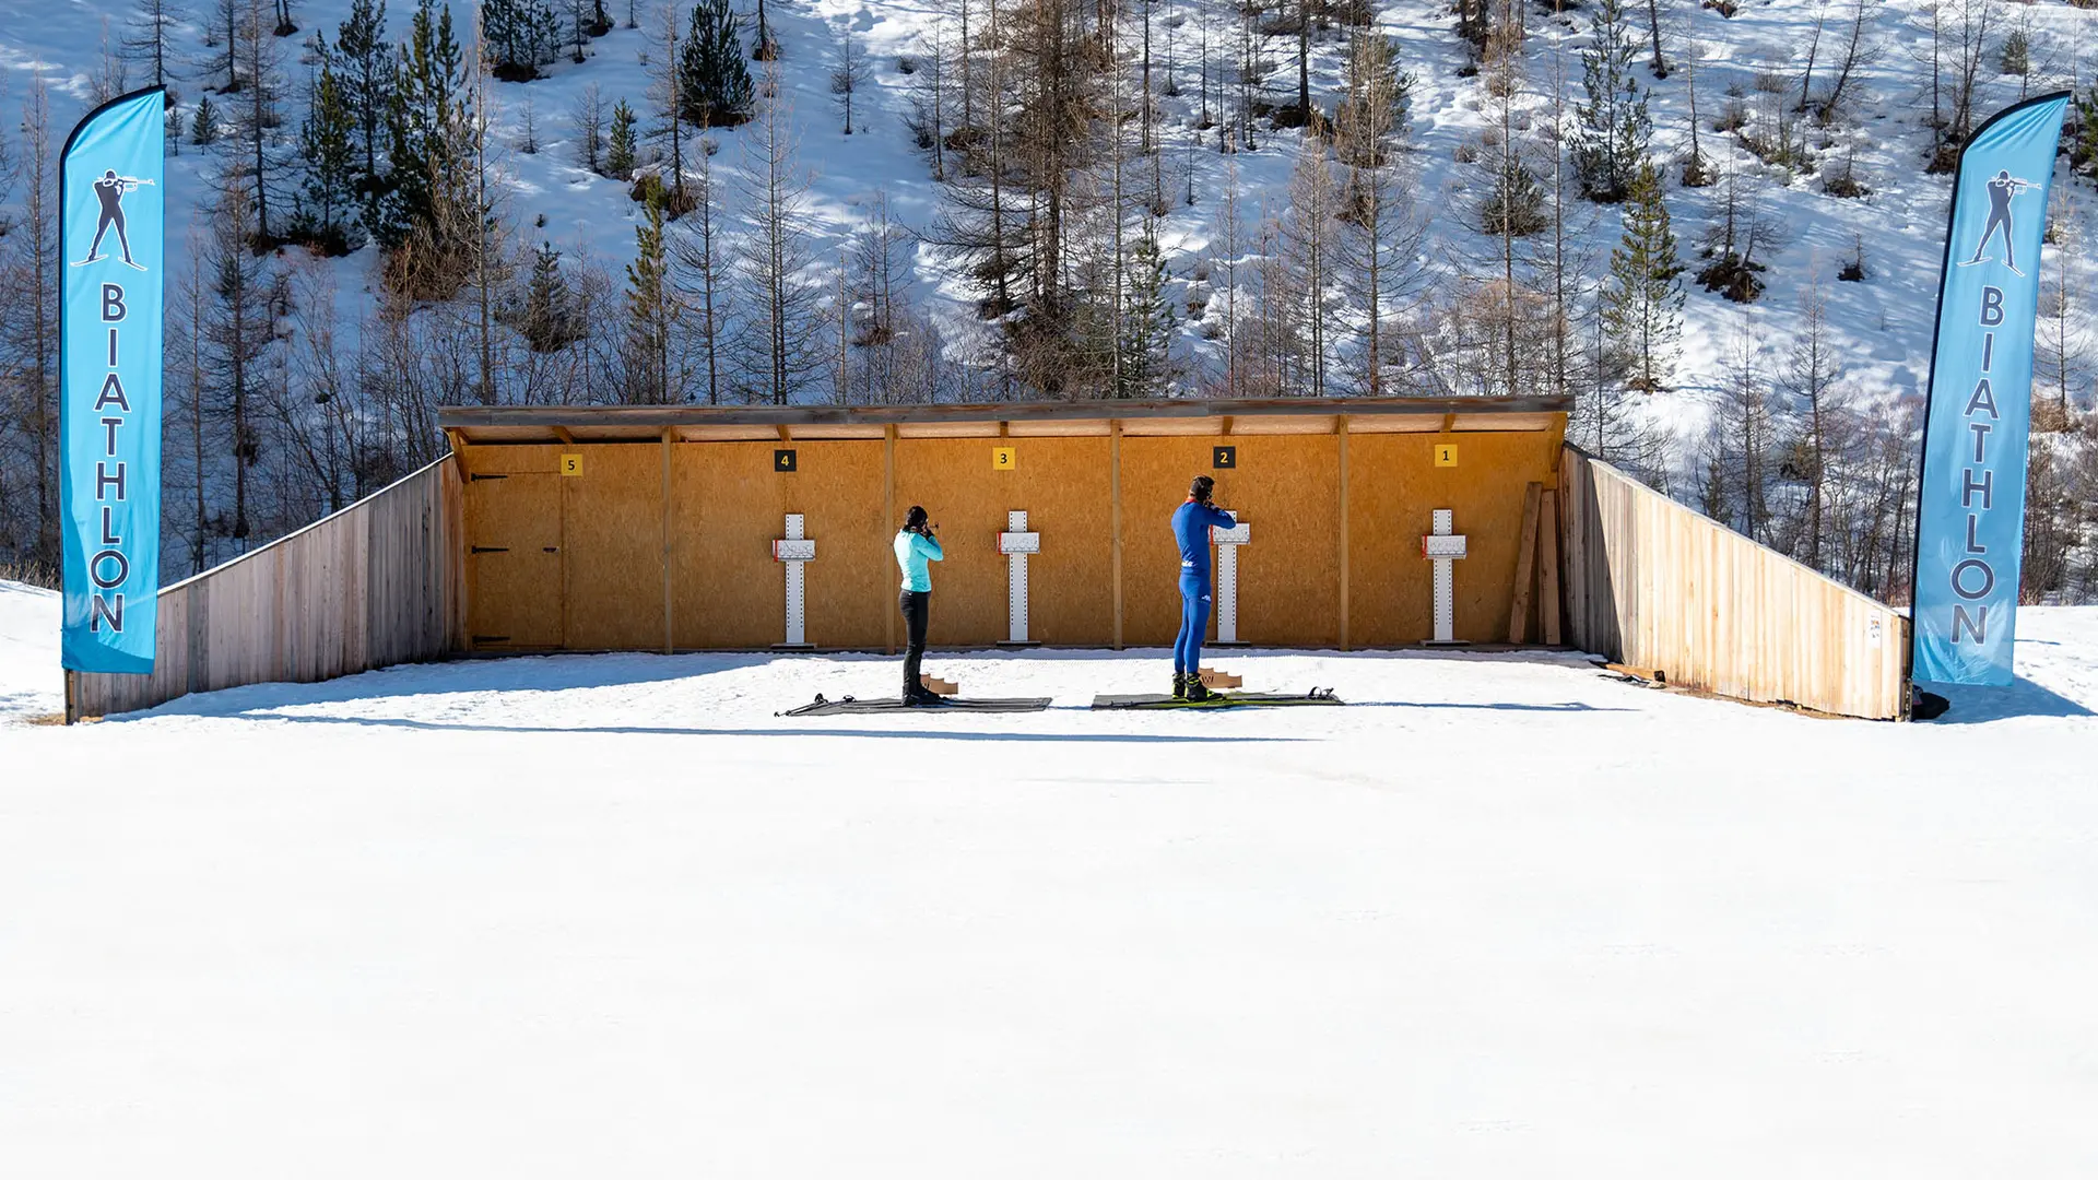
[[[67,720],[185,693],[313,682],[457,651],[466,600],[451,456],[159,592],[153,672],[67,674]]]

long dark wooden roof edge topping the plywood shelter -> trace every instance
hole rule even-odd
[[[971,405],[441,405],[470,426],[885,426],[904,422],[1089,422],[1374,414],[1563,414],[1571,397],[1263,397],[1162,401],[986,401]]]

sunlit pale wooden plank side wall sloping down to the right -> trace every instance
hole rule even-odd
[[[1907,619],[1607,462],[1559,464],[1567,638],[1670,684],[1825,714],[1905,714]]]

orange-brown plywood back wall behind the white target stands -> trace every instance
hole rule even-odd
[[[1458,445],[1458,466],[1433,466],[1437,441]],[[1213,468],[1213,447],[1238,449],[1236,468]],[[1456,510],[1471,538],[1458,565],[1456,634],[1496,640],[1506,630],[1523,489],[1550,485],[1559,430],[1347,437],[1349,487],[1341,489],[1339,435],[1122,437],[1122,642],[1166,645],[1179,626],[1179,552],[1169,519],[1196,475],[1217,479],[1217,502],[1253,523],[1240,550],[1240,638],[1276,647],[1341,642],[1341,548],[1347,538],[1349,642],[1389,647],[1429,636],[1429,563],[1420,533],[1435,508]],[[795,451],[793,472],[774,451]],[[894,449],[892,449],[894,447]],[[997,447],[1013,464],[992,462]],[[520,544],[558,535],[560,563],[545,588],[489,586],[470,603],[483,634],[541,636],[535,619],[508,624],[510,609],[548,613],[558,596],[560,636],[548,647],[659,651],[762,649],[785,638],[785,569],[772,561],[787,512],[806,517],[816,540],[808,567],[808,640],[831,649],[883,649],[894,632],[892,540],[904,508],[923,504],[940,525],[946,561],[934,567],[932,642],[992,645],[1007,636],[1007,559],[997,535],[1013,508],[1041,533],[1030,559],[1030,638],[1066,647],[1114,642],[1114,470],[1106,437],[795,439],[791,443],[671,443],[669,498],[663,443],[462,447],[468,472],[552,479],[558,527],[512,527]],[[560,454],[581,454],[581,477],[556,477]],[[885,489],[894,481],[894,512]],[[518,483],[518,481],[510,481]],[[468,485],[474,521],[493,512]],[[516,508],[527,498],[516,489]],[[1343,531],[1341,504],[1347,502]],[[663,554],[665,508],[669,554]],[[552,510],[552,508],[541,508]],[[894,519],[892,519],[894,517]],[[472,527],[468,529],[472,531]],[[527,535],[529,533],[529,535]],[[472,544],[472,538],[468,538]],[[468,559],[472,561],[472,559]],[[667,571],[665,571],[667,561]],[[512,563],[527,565],[527,563]],[[472,592],[472,582],[470,582]]]

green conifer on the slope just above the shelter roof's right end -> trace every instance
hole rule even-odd
[[[1632,388],[1666,388],[1683,336],[1683,265],[1676,235],[1662,202],[1662,172],[1641,160],[1626,193],[1624,235],[1609,252],[1609,288],[1603,294],[1603,328],[1632,372]]]

